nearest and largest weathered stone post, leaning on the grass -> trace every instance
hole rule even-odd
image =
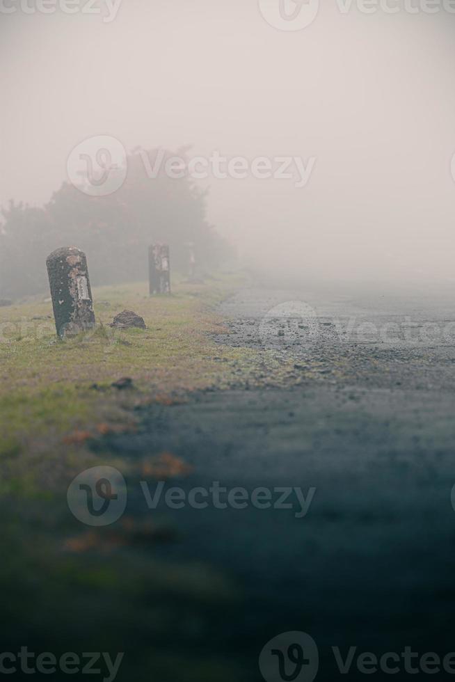
[[[85,253],[75,246],[58,248],[47,257],[57,334],[79,334],[95,326]]]

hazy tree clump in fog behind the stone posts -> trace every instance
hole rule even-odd
[[[24,296],[47,290],[47,255],[61,246],[86,252],[94,285],[147,278],[147,247],[153,241],[170,245],[173,267],[186,269],[189,242],[200,262],[219,264],[230,247],[209,225],[206,192],[187,175],[175,180],[163,171],[147,174],[158,150],[130,154],[127,179],[115,193],[88,196],[64,183],[44,207],[13,203],[3,209],[0,230],[0,295]],[[161,152],[162,153],[162,152]],[[183,157],[186,150],[179,150]]]

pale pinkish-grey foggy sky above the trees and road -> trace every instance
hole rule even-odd
[[[95,135],[315,157],[304,188],[202,182],[209,220],[275,271],[455,281],[454,27],[443,11],[342,15],[326,0],[296,32],[257,0],[123,0],[111,23],[0,14],[0,202],[45,203]]]

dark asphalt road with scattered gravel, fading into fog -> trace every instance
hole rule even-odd
[[[206,509],[170,509],[161,499],[154,512],[179,533],[160,556],[205,562],[237,594],[229,610],[201,617],[193,651],[236,660],[248,681],[264,679],[260,651],[287,631],[313,637],[318,680],[365,679],[356,663],[341,675],[331,647],[343,657],[352,646],[378,657],[407,646],[420,655],[455,651],[451,304],[431,293],[241,292],[221,306],[230,333],[217,341],[268,349],[289,365],[288,386],[264,381],[263,367],[262,388],[152,406],[138,434],[106,440],[132,459],[170,451],[191,463],[193,473],[164,492],[209,491],[214,482],[246,491],[244,509],[216,508],[226,492],[219,502],[209,493]],[[270,491],[271,508],[252,504],[259,488]],[[277,489],[294,489],[290,508],[273,508]],[[150,513],[139,491],[134,505]],[[394,678],[408,679],[399,666]],[[303,669],[296,679],[312,677]]]

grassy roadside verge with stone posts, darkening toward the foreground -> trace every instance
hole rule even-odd
[[[201,649],[219,614],[237,608],[230,580],[210,566],[169,562],[166,552],[159,558],[157,547],[173,541],[159,518],[84,527],[66,491],[99,463],[144,475],[143,463],[131,470],[89,447],[109,431],[135,429],[134,408],[171,406],[185,392],[228,386],[239,367],[246,376],[254,370],[253,351],[209,336],[223,328],[214,305],[245,281],[218,274],[201,285],[177,282],[172,296],[153,299],[145,283],[95,289],[96,330],[64,342],[49,301],[0,308],[3,651],[125,651],[120,681],[242,679],[217,644]],[[147,329],[114,333],[109,323],[124,309]],[[125,376],[134,388],[112,386]],[[147,475],[154,478],[153,467]]]

